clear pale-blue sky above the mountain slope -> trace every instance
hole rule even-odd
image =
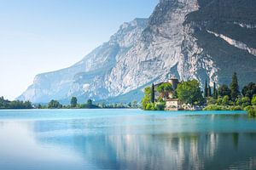
[[[158,0],[0,0],[0,96],[15,99],[43,72],[73,65]]]

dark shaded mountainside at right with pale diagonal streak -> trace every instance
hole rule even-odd
[[[229,84],[232,72],[236,71],[241,85],[255,82],[256,2],[199,0],[198,3],[201,8],[187,15],[184,26],[189,27],[189,36],[195,38],[194,44],[202,50],[187,57],[207,60],[208,64],[212,63],[212,68],[201,62],[202,69],[195,71],[195,75],[199,79],[209,77],[220,84]],[[183,54],[189,52],[186,44]]]

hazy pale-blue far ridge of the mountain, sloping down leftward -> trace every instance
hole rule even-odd
[[[85,99],[107,99],[110,95],[105,85],[119,58],[122,58],[138,41],[148,19],[136,19],[119,27],[108,42],[94,49],[84,59],[69,68],[39,74],[33,84],[18,99],[35,103],[59,99],[67,103],[71,96]]]

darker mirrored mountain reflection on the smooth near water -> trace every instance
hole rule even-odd
[[[256,151],[251,135],[241,134],[241,144],[237,143],[239,134],[234,139],[234,133],[75,135],[40,141],[69,147],[98,168],[229,169],[238,163],[247,169]]]

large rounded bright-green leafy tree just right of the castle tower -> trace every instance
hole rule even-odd
[[[184,103],[194,105],[203,102],[200,84],[196,80],[181,82],[177,85],[177,98]]]

